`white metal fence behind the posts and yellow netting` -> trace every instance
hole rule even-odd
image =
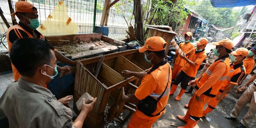
[[[18,0],[12,0],[13,6]],[[59,0],[26,0],[33,4],[38,11],[40,23],[46,21],[48,15],[55,9]],[[67,14],[73,22],[77,23],[77,33],[91,33],[93,29],[93,10],[94,0],[62,0],[67,6]],[[124,39],[127,35],[125,30],[128,26],[123,17],[128,20],[128,23],[134,24],[133,3],[131,0],[120,0],[110,8],[108,27],[109,37],[114,39]],[[100,25],[104,0],[97,0],[96,26]],[[13,7],[15,8],[15,7]]]

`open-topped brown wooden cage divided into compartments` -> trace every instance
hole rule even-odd
[[[106,123],[106,106],[110,107],[108,121],[117,117],[125,123],[135,111],[136,105],[122,102],[121,95],[133,93],[140,80],[134,76],[122,75],[122,70],[143,72],[149,69],[151,65],[146,63],[144,53],[139,53],[135,49],[101,55],[78,61],[76,66],[74,102],[85,92],[98,98],[84,125],[88,128],[103,127]],[[79,113],[75,103],[73,108]],[[124,119],[119,118],[122,110],[129,111]]]

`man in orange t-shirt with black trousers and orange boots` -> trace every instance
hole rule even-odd
[[[178,84],[181,83],[182,89],[179,95],[175,98],[175,101],[180,101],[183,93],[187,89],[188,82],[194,79],[200,64],[207,56],[204,48],[208,44],[208,39],[200,38],[199,41],[196,42],[196,44],[197,46],[195,48],[186,53],[186,55],[188,55],[188,58],[186,57],[186,55],[180,55],[180,57],[184,59],[187,63],[184,65],[182,71],[176,77],[170,91],[170,95],[173,95],[178,87]]]

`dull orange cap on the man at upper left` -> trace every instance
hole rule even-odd
[[[34,8],[34,10],[33,10]],[[27,1],[18,1],[15,3],[15,12],[11,15],[15,15],[16,12],[24,12],[24,13],[38,13],[36,7],[34,7],[33,4],[27,2]]]

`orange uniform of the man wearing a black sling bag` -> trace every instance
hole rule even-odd
[[[169,68],[170,68],[170,74],[168,74]],[[168,76],[169,76],[169,80],[168,80]],[[152,113],[152,115],[156,115],[160,112],[160,115],[149,117],[143,114],[141,111],[136,110],[131,120],[129,121],[127,128],[151,128],[153,126],[153,123],[157,119],[159,119],[161,115],[163,115],[165,106],[169,99],[171,76],[172,76],[172,71],[171,71],[170,64],[168,64],[167,61],[165,61],[165,64],[162,64],[153,72],[147,73],[142,78],[140,86],[135,91],[135,96],[137,99],[143,100],[147,96],[151,96],[157,99],[165,91],[160,101],[157,102],[157,107],[155,112]],[[167,89],[165,90],[165,87],[168,81],[169,83],[167,85]]]

